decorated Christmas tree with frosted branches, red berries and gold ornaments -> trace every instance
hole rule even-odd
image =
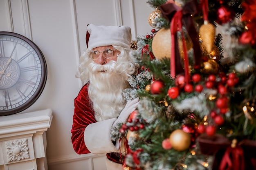
[[[256,0],[147,3],[152,33],[131,42],[138,74],[124,90],[140,103],[111,132],[124,169],[256,169]]]

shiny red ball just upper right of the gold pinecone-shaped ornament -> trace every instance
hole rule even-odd
[[[225,24],[235,17],[234,11],[227,6],[221,5],[217,10],[217,19],[215,20],[218,24]]]

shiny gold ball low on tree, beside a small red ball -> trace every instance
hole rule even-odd
[[[169,139],[171,146],[177,151],[184,151],[188,149],[191,144],[191,135],[181,129],[174,130]]]

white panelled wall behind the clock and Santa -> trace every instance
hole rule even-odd
[[[77,155],[71,144],[74,98],[82,83],[75,78],[85,49],[87,24],[127,25],[132,39],[151,33],[147,0],[0,0],[0,31],[16,32],[35,42],[47,62],[42,95],[22,113],[51,108],[47,135],[49,170],[104,170],[102,155]]]

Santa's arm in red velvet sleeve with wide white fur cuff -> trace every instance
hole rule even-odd
[[[115,118],[97,122],[90,107],[87,87],[84,86],[74,100],[72,144],[78,154],[103,154],[117,152],[110,139],[110,129]]]

